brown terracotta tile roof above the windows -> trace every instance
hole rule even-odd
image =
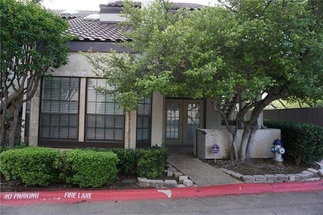
[[[141,2],[135,2],[135,5],[141,7]],[[109,7],[122,7],[123,3],[118,1],[109,4]],[[200,9],[202,5],[192,3],[175,3],[173,10],[180,8],[189,8],[191,10]],[[89,21],[83,18],[91,14],[100,14],[99,11],[78,11],[79,13],[72,15],[62,15],[64,10],[52,10],[53,13],[60,15],[63,19],[67,19],[72,35],[78,36],[78,40],[90,41],[131,41],[131,38],[122,34],[122,31],[130,30],[127,27],[121,27],[114,23],[100,23],[100,21]]]

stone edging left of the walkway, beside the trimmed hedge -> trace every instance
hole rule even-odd
[[[167,164],[167,169],[165,169],[164,173],[168,177],[174,176],[179,179],[179,184],[177,184],[176,180],[153,180],[147,178],[138,177],[138,185],[142,187],[156,187],[156,188],[164,188],[164,187],[197,187],[196,184],[193,183],[192,180],[188,178],[188,176],[184,176],[179,170],[177,170],[171,164]]]

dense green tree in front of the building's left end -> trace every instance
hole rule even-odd
[[[50,68],[68,61],[67,42],[71,40],[68,23],[34,1],[1,1],[1,135],[10,125],[10,144],[15,144],[19,111],[30,100],[42,76]],[[8,108],[14,111],[8,121]]]

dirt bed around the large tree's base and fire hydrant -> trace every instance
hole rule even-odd
[[[307,168],[319,168],[318,164],[301,163],[299,166],[295,164],[293,157],[285,157],[282,165],[277,164],[273,159],[251,159],[250,163],[231,164],[229,160],[207,160],[208,164],[219,168],[226,168],[242,175],[264,175],[264,174],[295,174],[306,170]]]

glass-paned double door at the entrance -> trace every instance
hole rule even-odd
[[[204,125],[204,102],[166,99],[165,144],[192,145],[195,128]]]

